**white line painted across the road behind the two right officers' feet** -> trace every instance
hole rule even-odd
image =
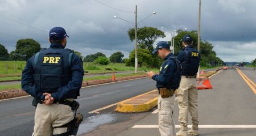
[[[188,125],[191,128],[192,125]],[[133,128],[146,129],[158,128],[158,125],[135,125]],[[180,125],[175,125],[175,128],[180,128]],[[201,129],[256,129],[256,125],[199,125]]]

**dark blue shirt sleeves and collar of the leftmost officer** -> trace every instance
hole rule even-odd
[[[60,44],[51,44],[50,48],[64,48],[63,45]],[[39,87],[36,87],[34,84],[34,68],[32,63],[34,63],[35,56],[32,56],[28,59],[26,67],[22,72],[22,90],[26,91],[31,96],[36,99],[44,100],[44,95],[42,91],[38,91]],[[84,69],[82,66],[81,58],[79,58],[76,54],[73,54],[71,61],[71,71],[72,78],[65,84],[57,89],[56,92],[53,92],[51,96],[55,99],[55,101],[64,100],[67,98],[76,99],[77,95],[79,96],[79,91],[82,84],[82,78],[84,76]],[[39,93],[40,92],[40,93]]]

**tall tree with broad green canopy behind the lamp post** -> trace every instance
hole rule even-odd
[[[135,29],[130,28],[128,31],[128,35],[130,37],[130,41],[135,40]],[[139,44],[139,48],[148,49],[150,52],[154,50],[153,44],[158,38],[166,37],[163,31],[160,31],[154,27],[142,27],[138,29],[137,32],[137,42]]]

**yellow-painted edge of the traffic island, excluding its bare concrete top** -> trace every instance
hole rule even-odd
[[[130,99],[121,101],[120,103],[117,104],[115,111],[123,112],[123,113],[150,111],[150,109],[152,109],[152,108],[156,107],[156,105],[158,105],[158,97],[154,97],[154,98],[146,101],[146,103],[142,103],[142,104],[126,104],[126,103],[129,101],[133,101],[134,99],[138,99],[139,97],[145,96],[147,94],[157,92],[157,91],[158,90],[153,90],[153,91],[144,93],[142,95],[138,95],[138,96],[132,97]]]

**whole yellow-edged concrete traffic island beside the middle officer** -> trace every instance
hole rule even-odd
[[[123,113],[147,112],[158,105],[158,90],[146,92],[117,104],[115,111]]]

